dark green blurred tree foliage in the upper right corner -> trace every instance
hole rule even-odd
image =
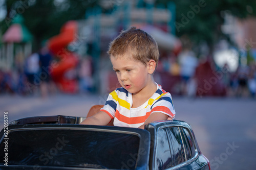
[[[176,33],[178,37],[188,36],[198,44],[204,40],[210,47],[221,37],[226,37],[221,31],[224,22],[223,12],[229,12],[238,18],[256,16],[256,1],[250,0],[174,0],[176,4]],[[157,0],[156,4],[169,1]],[[228,37],[226,37],[228,38]]]

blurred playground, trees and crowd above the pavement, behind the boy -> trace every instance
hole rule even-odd
[[[173,95],[254,98],[253,1],[0,1],[0,93],[104,94],[118,86],[106,54],[136,26],[158,42],[154,75]]]

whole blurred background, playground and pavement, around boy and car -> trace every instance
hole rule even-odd
[[[0,0],[0,124],[86,116],[119,87],[108,51],[136,26],[159,45],[155,81],[194,129],[212,169],[253,169],[256,2]],[[230,144],[233,153],[228,154]],[[230,152],[229,152],[230,153]],[[235,163],[239,163],[239,165]]]

